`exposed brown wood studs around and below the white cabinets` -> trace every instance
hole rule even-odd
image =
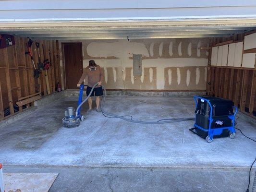
[[[210,47],[231,41],[244,41],[245,35],[247,34],[236,34],[228,38],[211,38]],[[256,50],[250,51],[256,52]],[[207,94],[232,100],[241,112],[256,119],[256,67],[211,66],[210,58],[211,49],[209,49],[208,60]]]

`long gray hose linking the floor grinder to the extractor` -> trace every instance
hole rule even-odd
[[[90,91],[89,95],[82,101],[82,103],[77,107],[76,109],[76,115],[78,113],[78,110],[79,108],[81,108],[81,106],[85,103],[85,101],[87,101],[87,99],[91,96],[92,92],[93,92],[93,89],[95,86],[97,86],[97,84],[93,85],[92,87],[92,90]],[[181,121],[186,121],[186,120],[195,120],[195,118],[183,118],[183,119],[170,119],[170,120],[163,120],[163,121],[141,121],[141,120],[132,120],[132,119],[127,119],[125,118],[124,116],[120,116],[120,115],[116,115],[116,114],[112,114],[112,113],[109,113],[109,112],[106,112],[104,110],[104,105],[105,105],[105,100],[106,100],[106,89],[103,85],[101,85],[102,88],[104,89],[104,94],[103,94],[103,97],[102,97],[102,101],[100,102],[100,109],[101,109],[101,112],[102,114],[105,116],[108,115],[108,116],[111,116],[111,117],[114,117],[114,118],[119,118],[119,119],[122,119],[122,120],[126,120],[126,121],[129,121],[129,122],[133,122],[133,123],[142,123],[142,124],[163,124],[163,123],[173,123],[173,122],[181,122]]]

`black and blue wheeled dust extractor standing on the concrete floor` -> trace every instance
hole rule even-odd
[[[212,105],[212,103],[210,102],[210,98],[216,99],[216,101],[219,101],[219,104]],[[205,118],[205,120],[203,118],[201,118],[200,116],[198,116],[200,113],[199,110],[195,111],[195,113],[196,113],[195,119],[196,120],[195,120],[194,128],[190,129],[190,131],[194,132],[195,134],[199,135],[202,138],[205,138],[208,143],[212,142],[213,138],[215,138],[215,137],[228,136],[230,132],[231,132],[231,134],[229,135],[229,137],[231,139],[234,138],[234,136],[235,136],[234,125],[235,125],[235,116],[237,114],[237,107],[235,107],[235,106],[231,107],[231,109],[229,110],[230,115],[218,116],[215,114],[216,106],[220,105],[219,111],[225,110],[226,108],[223,105],[223,103],[225,103],[226,101],[228,102],[230,100],[225,100],[222,98],[215,98],[215,97],[209,97],[209,99],[207,99],[207,97],[200,97],[200,96],[194,96],[194,100],[195,100],[196,108],[198,107],[198,101],[200,101],[202,103],[207,102],[207,104],[205,106],[207,106],[207,108],[209,106],[210,110],[208,111],[208,109],[206,109],[206,107],[203,108],[205,110],[205,113],[203,116],[203,118]],[[221,106],[221,103],[222,103],[222,106]],[[234,113],[233,113],[233,108],[235,109]],[[201,121],[199,120],[200,118],[201,118]],[[202,122],[202,121],[206,121],[206,123]],[[227,122],[225,122],[225,121],[227,121]],[[200,122],[200,123],[198,123],[198,122]],[[202,125],[205,125],[205,126],[202,126]],[[225,126],[225,125],[228,125],[228,126]]]

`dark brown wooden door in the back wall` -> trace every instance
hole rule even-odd
[[[64,50],[66,89],[76,86],[83,73],[82,43],[62,43]]]

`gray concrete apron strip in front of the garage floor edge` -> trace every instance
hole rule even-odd
[[[248,168],[6,166],[4,172],[58,172],[49,192],[245,192],[248,185]]]

